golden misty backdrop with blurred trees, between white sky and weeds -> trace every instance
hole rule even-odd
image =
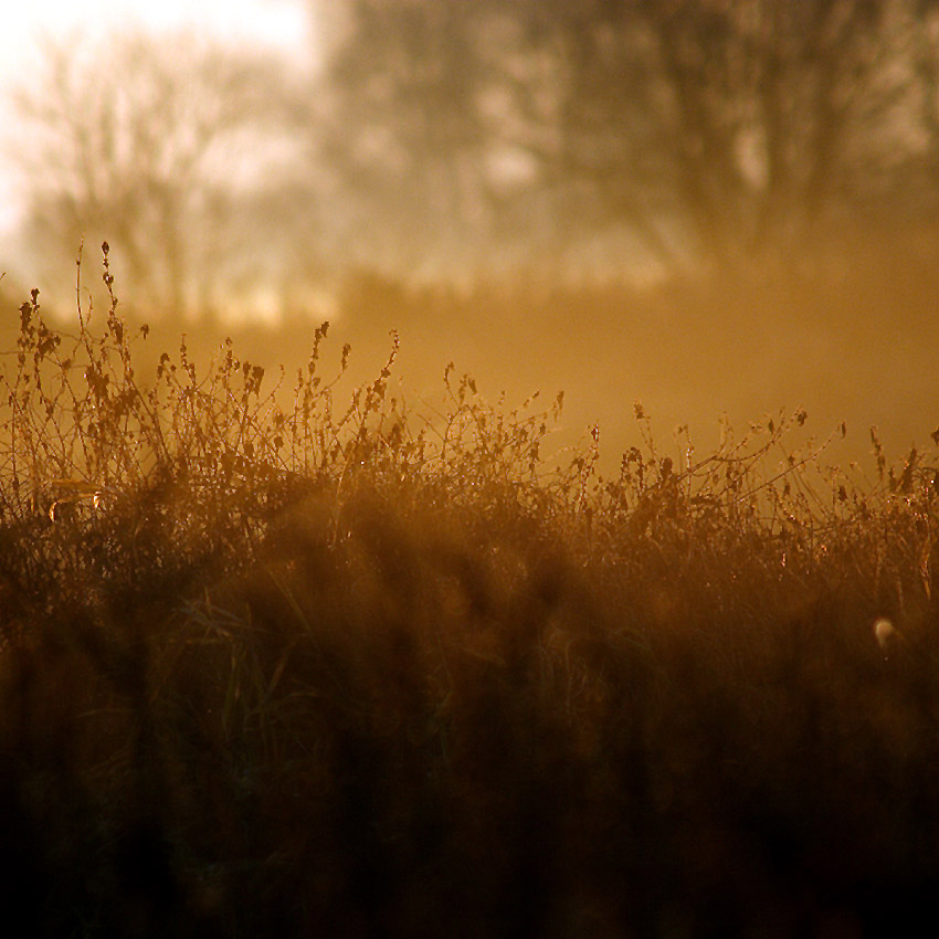
[[[613,462],[636,401],[703,445],[804,408],[820,441],[846,422],[836,461],[932,432],[937,4],[298,6],[289,54],[41,50],[9,310],[102,308],[107,240],[154,357],[232,335],[293,369],[329,320],[354,383],[393,329],[400,394],[451,361],[493,400],[563,390],[558,445],[599,424]]]

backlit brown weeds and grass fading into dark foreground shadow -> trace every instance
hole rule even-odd
[[[6,935],[935,922],[935,450],[823,470],[795,413],[704,455],[636,408],[601,478],[547,457],[560,400],[392,399],[393,347],[340,402],[325,327],[274,389],[230,347],[137,374],[116,302],[21,317]]]

